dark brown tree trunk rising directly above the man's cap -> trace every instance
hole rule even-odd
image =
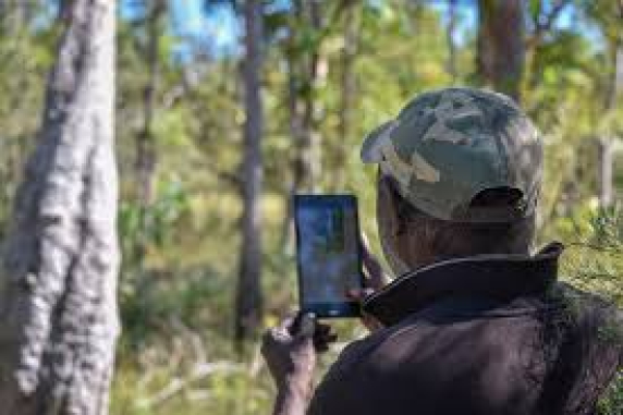
[[[477,68],[486,86],[520,100],[525,59],[524,1],[479,0]]]

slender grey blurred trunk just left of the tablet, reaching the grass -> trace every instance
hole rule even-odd
[[[254,334],[261,316],[261,0],[244,4],[246,25],[243,63],[245,112],[243,173],[243,216],[240,279],[236,292],[235,340],[239,344]]]

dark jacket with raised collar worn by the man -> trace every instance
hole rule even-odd
[[[386,325],[349,345],[308,414],[591,414],[622,365],[621,314],[534,257],[439,263],[374,295]]]

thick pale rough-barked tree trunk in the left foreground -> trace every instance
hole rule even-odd
[[[0,405],[107,413],[119,333],[114,1],[74,0],[0,280]]]

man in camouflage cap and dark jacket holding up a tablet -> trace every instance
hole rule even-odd
[[[595,413],[623,363],[621,313],[557,282],[560,244],[532,255],[542,144],[517,106],[424,94],[366,137],[362,158],[379,164],[379,236],[400,277],[364,300],[378,329],[314,394],[327,328],[304,316],[266,334],[274,413]]]

